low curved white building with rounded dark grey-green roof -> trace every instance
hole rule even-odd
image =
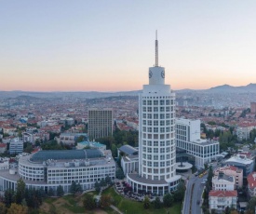
[[[0,190],[16,190],[21,178],[27,187],[43,188],[47,193],[49,188],[56,190],[61,185],[68,193],[72,181],[88,190],[107,176],[115,179],[115,161],[109,150],[39,151],[20,157],[17,169],[2,170]]]

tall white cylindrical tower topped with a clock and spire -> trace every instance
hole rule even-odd
[[[139,172],[127,175],[133,191],[166,194],[181,180],[176,175],[175,94],[165,85],[165,68],[149,68],[149,85],[139,95]]]

